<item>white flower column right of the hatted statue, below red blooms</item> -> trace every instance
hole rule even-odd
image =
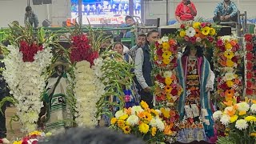
[[[94,127],[98,124],[96,103],[105,93],[105,86],[99,79],[102,76],[102,58],[95,59],[94,64],[92,68],[88,61],[80,61],[75,65],[74,96],[77,98],[78,126]]]

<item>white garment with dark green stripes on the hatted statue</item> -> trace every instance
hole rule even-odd
[[[66,74],[48,79],[44,101],[47,103],[46,130],[60,132],[73,126],[71,110],[67,104],[66,88],[68,82]]]

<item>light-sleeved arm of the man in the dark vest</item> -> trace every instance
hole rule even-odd
[[[145,80],[145,78],[143,76],[143,72],[142,72],[143,62],[144,62],[143,50],[142,50],[142,48],[139,48],[137,50],[137,53],[136,53],[136,56],[135,56],[135,69],[134,69],[134,73],[136,75],[138,83],[142,86],[142,89],[146,89],[149,86],[146,84],[146,80]]]

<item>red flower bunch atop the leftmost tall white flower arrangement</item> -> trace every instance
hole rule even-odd
[[[19,42],[19,51],[22,52],[23,62],[34,62],[34,54],[37,54],[38,51],[42,50],[42,45],[37,43],[28,43],[26,41]]]

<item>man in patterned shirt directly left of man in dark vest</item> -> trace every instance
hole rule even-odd
[[[127,54],[129,54],[130,57],[133,58],[133,60],[134,60],[138,48],[144,47],[145,44],[146,44],[146,34],[138,34],[138,37],[136,38],[136,45],[133,46],[132,48],[130,48],[130,50],[128,50]]]

